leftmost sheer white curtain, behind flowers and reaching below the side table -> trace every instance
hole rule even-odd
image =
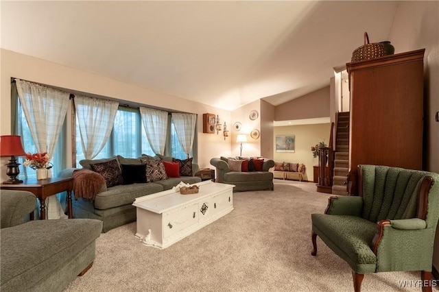
[[[36,151],[47,152],[51,160],[66,117],[70,95],[23,80],[16,79],[15,83]],[[47,204],[47,218],[67,217],[55,196],[47,198],[45,204]]]

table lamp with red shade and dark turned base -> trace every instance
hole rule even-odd
[[[19,173],[20,163],[16,162],[15,156],[25,156],[26,153],[21,144],[21,137],[16,135],[0,136],[0,156],[11,157],[9,163],[6,165],[6,174],[10,177],[9,180],[3,184],[21,184],[23,180],[16,178]]]

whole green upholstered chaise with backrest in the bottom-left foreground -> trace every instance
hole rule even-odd
[[[34,194],[1,190],[0,196],[2,292],[62,291],[91,267],[101,221],[29,221]]]

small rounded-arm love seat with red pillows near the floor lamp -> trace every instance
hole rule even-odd
[[[233,192],[274,190],[273,173],[270,172],[274,161],[271,159],[221,157],[212,158],[211,165],[216,167],[215,182],[235,184]]]

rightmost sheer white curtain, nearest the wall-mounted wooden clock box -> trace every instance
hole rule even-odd
[[[178,141],[185,150],[187,158],[193,147],[193,138],[195,137],[195,123],[197,122],[196,114],[172,113],[172,122],[176,128]]]

